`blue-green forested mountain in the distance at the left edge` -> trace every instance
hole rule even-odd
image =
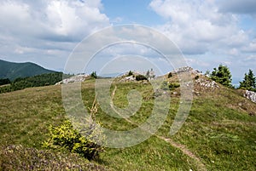
[[[5,60],[0,60],[0,78],[9,78],[15,80],[18,77],[32,77],[44,73],[51,73],[42,66],[38,66],[32,62],[15,63]]]

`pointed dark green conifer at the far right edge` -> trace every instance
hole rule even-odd
[[[250,69],[248,74],[245,73],[243,81],[240,82],[239,88],[245,88],[247,90],[255,91],[256,88],[256,77],[254,77],[253,71]]]

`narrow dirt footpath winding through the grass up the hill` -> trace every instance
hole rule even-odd
[[[115,94],[115,91],[117,89],[117,86],[114,87],[113,89],[113,93],[112,93],[112,96],[111,96],[111,100],[113,100],[113,97],[114,97],[114,94]],[[113,102],[112,102],[113,103]],[[113,104],[111,105],[111,107],[113,108]],[[114,110],[114,108],[113,108]],[[114,110],[115,111],[115,110]],[[118,112],[117,112],[118,113]],[[118,113],[119,114],[119,113]],[[119,114],[119,116],[121,116]],[[139,126],[137,123],[132,123],[130,119],[128,118],[124,118],[126,122],[128,123],[131,123],[133,125],[136,125],[137,127]],[[147,131],[147,130],[145,130]],[[149,133],[149,132],[148,132]],[[151,134],[151,133],[149,133]],[[205,167],[205,165],[201,162],[201,159],[199,157],[196,157],[195,154],[192,152],[192,151],[189,151],[189,149],[185,146],[185,145],[181,145],[181,144],[178,144],[177,142],[173,141],[172,139],[168,139],[166,137],[163,137],[163,136],[160,136],[160,135],[157,135],[157,134],[152,134],[154,136],[156,136],[157,138],[159,138],[160,140],[165,140],[166,143],[172,145],[173,147],[179,149],[180,151],[183,151],[183,154],[187,155],[188,157],[192,158],[193,160],[195,160],[198,168],[202,171],[205,171],[207,170],[207,168]]]

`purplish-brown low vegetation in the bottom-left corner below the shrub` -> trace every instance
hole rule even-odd
[[[0,155],[0,170],[107,170],[76,154],[25,148],[22,145],[1,146]]]

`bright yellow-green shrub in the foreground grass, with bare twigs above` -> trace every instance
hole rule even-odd
[[[96,112],[97,104],[94,102],[90,109],[91,117],[95,118]],[[96,140],[101,137],[99,129],[96,128],[96,123],[89,123],[87,127],[83,125],[81,130],[86,130],[84,136],[77,129],[73,128],[73,124],[70,121],[65,121],[59,127],[50,125],[49,140],[44,141],[43,146],[50,149],[78,153],[80,156],[89,160],[99,157],[100,152],[103,151],[103,147],[96,143]]]

